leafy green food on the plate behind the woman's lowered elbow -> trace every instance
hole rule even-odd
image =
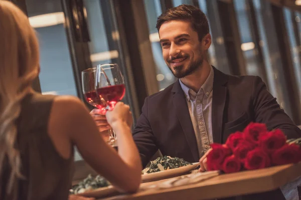
[[[80,181],[78,184],[73,185],[72,189],[69,190],[71,194],[83,193],[87,190],[96,189],[99,187],[106,187],[110,185],[110,182],[104,177],[97,175],[95,178],[89,174],[85,179]]]

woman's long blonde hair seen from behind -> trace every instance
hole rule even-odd
[[[39,44],[28,17],[12,2],[0,0],[0,175],[8,158],[11,174],[7,192],[22,178],[20,152],[15,148],[16,119],[21,100],[39,74]]]

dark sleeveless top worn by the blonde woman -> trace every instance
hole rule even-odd
[[[21,103],[16,146],[21,153],[22,174],[16,192],[7,194],[11,168],[7,158],[0,176],[0,199],[68,199],[73,176],[73,150],[69,159],[57,152],[48,135],[48,121],[54,95],[28,94]],[[73,149],[73,148],[72,148]]]

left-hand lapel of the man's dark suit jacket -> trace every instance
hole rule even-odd
[[[198,151],[197,139],[191,122],[191,117],[189,114],[189,109],[185,99],[185,95],[179,80],[174,83],[172,91],[175,92],[173,96],[173,103],[176,109],[177,117],[184,130],[185,137],[187,139],[194,159],[199,160],[200,156]]]

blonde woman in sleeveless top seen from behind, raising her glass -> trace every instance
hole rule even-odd
[[[0,199],[68,199],[73,145],[119,190],[135,191],[141,162],[129,107],[119,102],[106,113],[117,152],[78,98],[34,92],[39,70],[38,40],[27,16],[0,0]]]

